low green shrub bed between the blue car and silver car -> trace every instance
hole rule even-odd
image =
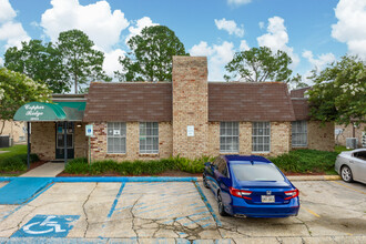
[[[337,152],[295,150],[270,160],[286,173],[333,172]]]

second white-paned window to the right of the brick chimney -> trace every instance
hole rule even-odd
[[[253,122],[252,151],[270,152],[271,124],[270,122]]]

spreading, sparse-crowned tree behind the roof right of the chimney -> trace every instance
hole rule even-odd
[[[232,75],[225,80],[238,79],[246,82],[283,81],[291,82],[292,70],[288,65],[292,59],[286,52],[278,50],[273,53],[267,47],[252,48],[236,52],[225,69]],[[295,80],[298,80],[298,74]],[[299,79],[301,80],[301,79]]]

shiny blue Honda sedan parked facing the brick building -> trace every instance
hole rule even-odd
[[[222,216],[287,217],[299,210],[298,190],[263,156],[217,156],[205,163],[203,184]]]

